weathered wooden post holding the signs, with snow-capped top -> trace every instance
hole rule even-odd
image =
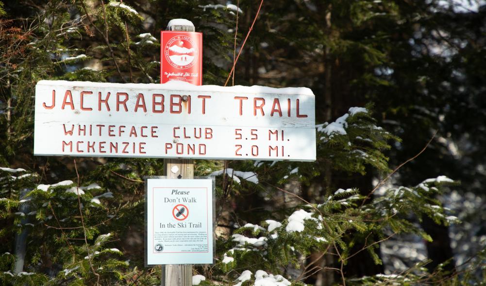
[[[187,19],[172,19],[167,24],[167,31],[195,32],[194,24]],[[170,170],[177,166],[178,171]],[[167,178],[192,179],[194,161],[191,159],[164,159],[164,172]],[[191,286],[192,265],[162,265],[161,286]]]

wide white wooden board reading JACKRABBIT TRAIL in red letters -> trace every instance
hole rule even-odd
[[[308,88],[41,80],[35,155],[315,160]]]

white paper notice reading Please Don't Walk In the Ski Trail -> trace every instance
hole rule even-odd
[[[212,180],[147,179],[147,265],[212,264]]]

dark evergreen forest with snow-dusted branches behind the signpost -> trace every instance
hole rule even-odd
[[[158,83],[176,18],[203,33],[203,84],[311,88],[319,139],[313,163],[195,161],[218,239],[194,283],[486,283],[485,1],[3,0],[0,284],[159,283],[142,178],[162,160],[33,156],[34,90]]]

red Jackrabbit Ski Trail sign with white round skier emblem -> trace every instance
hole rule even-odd
[[[160,82],[182,80],[202,84],[202,34],[162,31]]]

